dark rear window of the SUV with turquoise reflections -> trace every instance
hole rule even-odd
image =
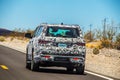
[[[47,28],[46,36],[77,38],[79,36],[79,30],[78,28],[50,26]]]

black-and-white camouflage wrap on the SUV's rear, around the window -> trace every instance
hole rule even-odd
[[[86,49],[85,45],[78,46],[76,43],[83,43],[85,44],[85,41],[82,36],[82,31],[79,26],[74,26],[74,25],[42,25],[44,26],[44,29],[42,31],[42,34],[37,37],[38,40],[45,40],[45,41],[50,41],[48,44],[39,44],[39,42],[34,45],[35,53],[36,54],[53,54],[53,55],[60,55],[60,54],[80,54],[80,55],[85,55]],[[73,27],[73,28],[78,28],[79,29],[79,34],[80,36],[78,38],[61,38],[61,37],[47,37],[45,36],[46,34],[46,29],[47,26],[59,26],[59,27]],[[69,47],[57,47],[54,45],[57,43],[65,43],[69,45]]]

